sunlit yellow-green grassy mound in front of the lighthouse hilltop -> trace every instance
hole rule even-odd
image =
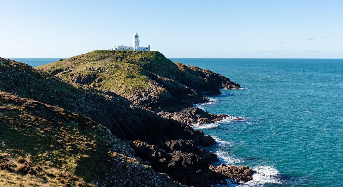
[[[76,76],[81,78],[97,77],[93,81],[91,79],[87,85],[112,90],[122,96],[128,96],[134,91],[157,85],[149,78],[150,73],[137,65],[106,60],[85,63],[75,67],[71,73],[60,73],[57,76],[69,81],[71,81],[71,77],[76,79]]]

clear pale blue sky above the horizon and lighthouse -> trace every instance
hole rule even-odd
[[[343,58],[343,1],[0,0],[0,57],[140,45],[168,58]]]

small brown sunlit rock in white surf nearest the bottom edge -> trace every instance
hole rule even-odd
[[[233,166],[221,164],[217,167],[210,166],[210,170],[220,173],[228,178],[234,179],[237,182],[248,182],[252,180],[252,174],[255,173],[248,166]]]

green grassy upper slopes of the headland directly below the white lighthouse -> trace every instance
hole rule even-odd
[[[66,60],[57,61],[36,69],[70,80],[68,73],[61,74],[66,70],[66,63]],[[97,50],[69,58],[69,64],[69,69],[75,71],[73,74],[84,76],[92,73],[92,70],[97,71],[98,67],[105,69],[101,72],[102,83],[92,86],[113,90],[118,94],[157,85],[150,79],[150,72],[174,80],[177,80],[176,75],[179,74],[176,64],[158,51],[117,51],[113,55],[112,51]]]

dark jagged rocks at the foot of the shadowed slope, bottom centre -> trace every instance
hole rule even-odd
[[[217,160],[214,153],[192,146],[191,141],[173,140],[166,142],[166,146],[169,151],[141,141],[131,142],[136,156],[151,163],[155,171],[167,173],[184,185],[200,187],[220,183],[221,178],[209,170],[209,161]]]

